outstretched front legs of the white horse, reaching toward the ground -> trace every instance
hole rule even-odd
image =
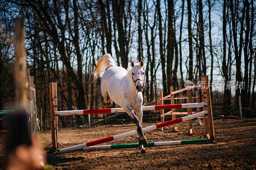
[[[134,112],[130,106],[127,106],[125,111],[133,119],[134,123],[137,125],[137,131],[138,131],[138,135],[139,135],[139,148],[140,148],[141,153],[145,153],[146,150],[143,147],[143,144],[148,144],[148,141],[147,141],[147,138],[145,137],[145,133],[141,129],[142,110],[141,110],[141,112],[139,111],[138,114],[136,114],[136,115],[141,115],[140,118],[138,118],[134,114]]]

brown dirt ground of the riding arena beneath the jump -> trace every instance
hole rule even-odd
[[[193,121],[193,124],[195,121]],[[156,123],[144,123],[148,127]],[[187,122],[179,123],[186,129]],[[194,127],[198,132],[203,127]],[[256,118],[225,119],[214,121],[215,136],[223,138],[215,144],[188,144],[146,148],[141,154],[137,148],[50,153],[45,151],[47,169],[256,169]],[[59,129],[59,142],[66,147],[110,137],[136,129],[134,124],[105,125],[92,128]],[[168,130],[146,133],[148,142],[197,139],[200,135],[181,136],[164,133]],[[0,151],[6,135],[0,135]],[[39,133],[42,147],[51,142],[51,132]],[[132,136],[105,144],[138,143]],[[0,154],[3,160],[3,152]],[[3,166],[0,162],[0,168]]]

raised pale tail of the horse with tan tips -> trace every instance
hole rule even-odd
[[[92,83],[94,83],[100,76],[100,73],[106,71],[109,67],[116,66],[113,58],[110,54],[105,54],[101,59],[98,61],[95,69],[92,71],[92,75],[96,73],[93,78]]]

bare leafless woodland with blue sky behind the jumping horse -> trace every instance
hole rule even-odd
[[[57,82],[59,110],[102,108],[97,61],[145,63],[144,103],[195,84],[201,75],[223,82],[212,92],[221,113],[255,109],[255,0],[0,0],[0,110],[14,104],[14,21],[23,17],[27,66],[35,77],[36,105],[49,126],[49,83]],[[240,90],[230,82],[244,82]],[[194,91],[193,91],[194,92]],[[195,92],[194,92],[195,93]],[[183,95],[186,95],[185,93]],[[192,95],[195,96],[195,95]],[[40,111],[39,111],[40,112]],[[60,116],[63,127],[73,119]],[[76,118],[77,120],[77,118]],[[76,122],[75,122],[76,123]]]

